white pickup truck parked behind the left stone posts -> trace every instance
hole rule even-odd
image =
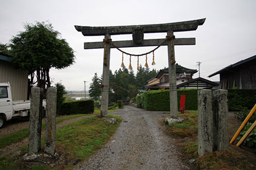
[[[43,101],[43,107],[45,107]],[[30,112],[30,100],[12,101],[10,83],[0,83],[0,128],[3,128],[6,121],[13,117],[28,116]]]

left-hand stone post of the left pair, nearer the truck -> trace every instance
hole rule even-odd
[[[28,155],[41,149],[43,89],[31,88]]]

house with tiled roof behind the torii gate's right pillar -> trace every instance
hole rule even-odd
[[[175,69],[177,89],[218,89],[218,83],[203,78],[193,79],[193,75],[197,73],[197,70],[188,69],[187,67],[183,67],[178,63],[175,64]],[[148,81],[148,84],[145,86],[145,89],[169,89],[169,86],[169,68],[164,68],[158,72],[155,78],[152,78]]]

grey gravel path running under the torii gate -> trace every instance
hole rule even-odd
[[[75,169],[189,169],[157,120],[168,114],[132,106],[111,114],[123,122],[109,142]]]

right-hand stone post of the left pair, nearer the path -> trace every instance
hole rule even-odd
[[[49,155],[55,151],[55,124],[57,109],[57,89],[50,87],[46,91],[46,126],[45,126],[45,148]]]

